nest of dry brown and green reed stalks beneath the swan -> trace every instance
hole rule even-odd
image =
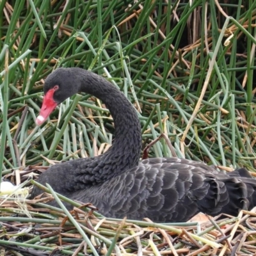
[[[49,189],[51,190],[51,188]],[[256,213],[187,223],[104,218],[91,204],[68,211],[45,204],[56,193],[28,200],[1,198],[1,255],[255,255]]]

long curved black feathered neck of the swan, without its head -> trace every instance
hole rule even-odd
[[[109,109],[115,124],[115,140],[109,150],[98,157],[84,159],[83,170],[88,184],[104,182],[137,166],[141,150],[141,125],[131,102],[113,84],[100,76],[82,70],[80,92],[90,93],[102,100]]]

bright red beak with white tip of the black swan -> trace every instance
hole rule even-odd
[[[44,96],[42,108],[40,110],[39,115],[36,118],[36,125],[41,125],[45,122],[48,116],[54,111],[56,106],[58,105],[53,99],[54,89],[50,89]]]

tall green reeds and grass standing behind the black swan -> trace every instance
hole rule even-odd
[[[109,111],[90,95],[72,97],[36,127],[44,79],[57,67],[86,68],[120,88],[138,109],[143,148],[164,133],[178,157],[254,172],[255,7],[2,0],[0,173],[19,184],[28,166],[42,170],[111,145]],[[173,153],[161,138],[148,155]]]

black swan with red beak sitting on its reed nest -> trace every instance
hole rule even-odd
[[[51,166],[41,184],[68,198],[97,206],[106,217],[187,221],[197,212],[237,215],[256,205],[256,180],[244,168],[221,173],[204,163],[174,157],[139,161],[141,126],[129,100],[106,79],[81,68],[58,68],[44,85],[36,124],[77,92],[106,104],[115,122],[115,140],[101,156]],[[42,193],[34,186],[31,196]],[[56,202],[50,204],[56,205]]]

